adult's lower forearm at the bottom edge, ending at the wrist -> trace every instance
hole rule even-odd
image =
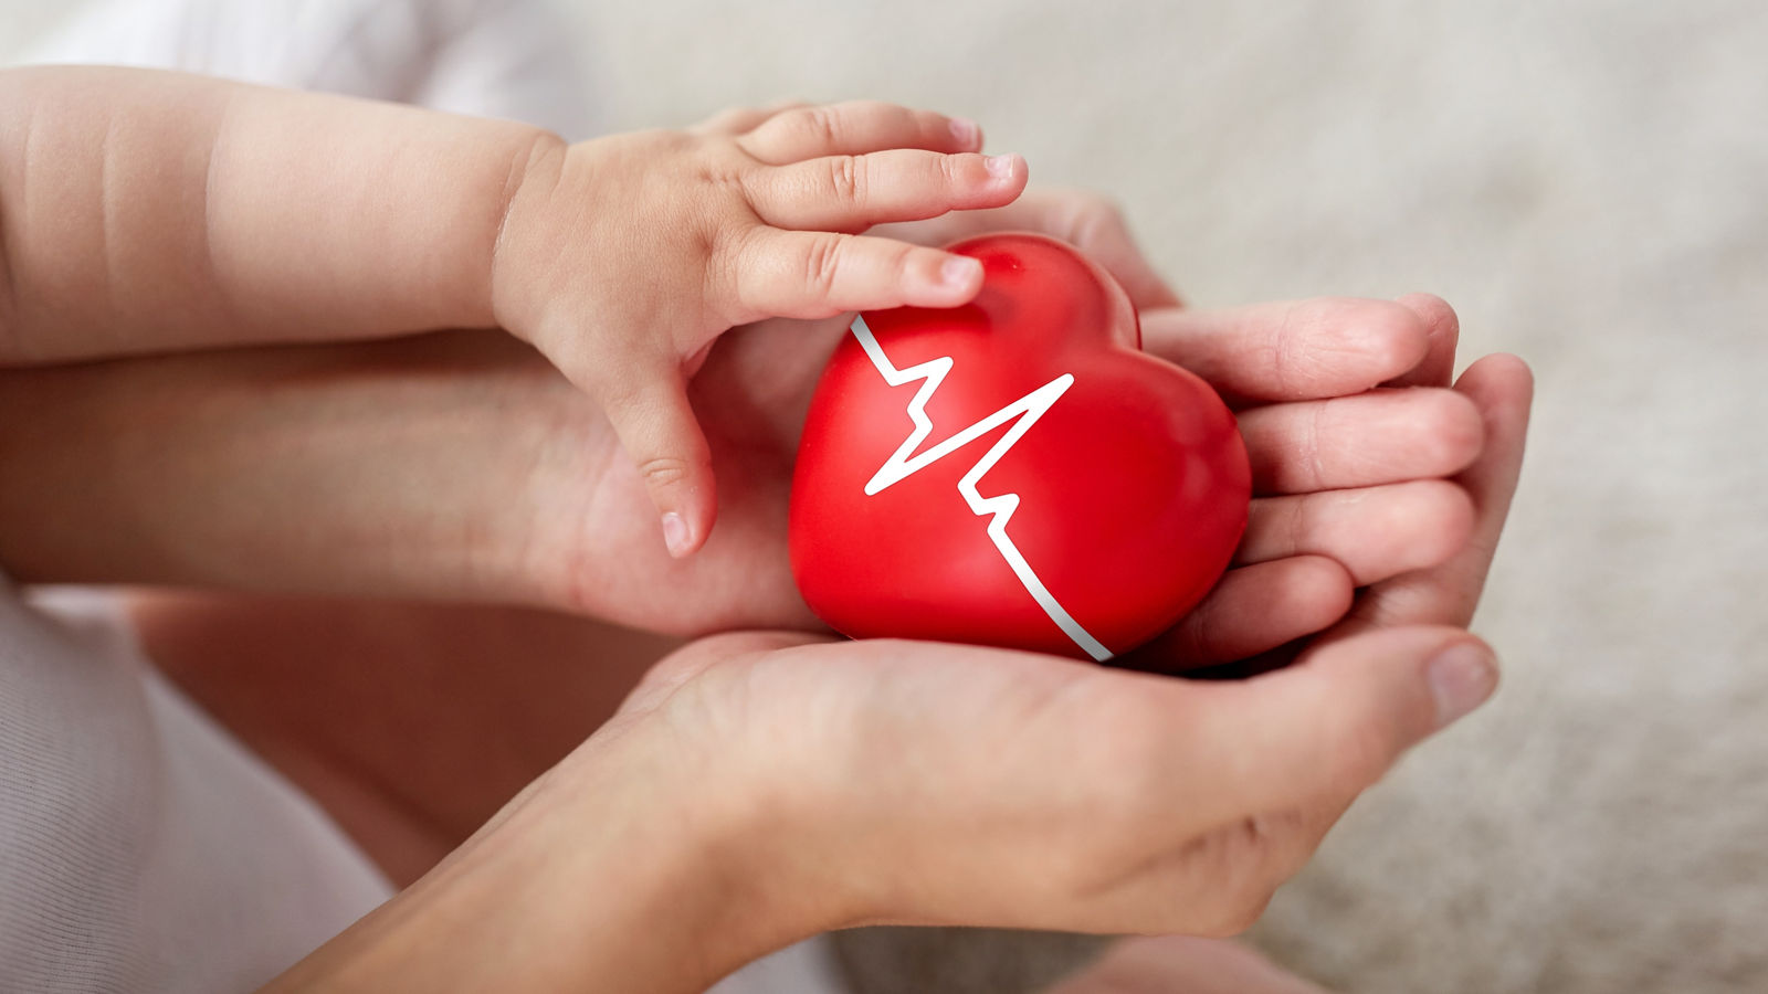
[[[267,987],[700,992],[801,937],[753,826],[656,727],[598,732],[417,884]]]

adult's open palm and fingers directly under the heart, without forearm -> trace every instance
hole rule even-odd
[[[1427,363],[1441,325],[1452,329],[1453,315],[1430,297],[1144,313],[1149,352],[1234,400],[1255,499],[1234,568],[1135,661],[1192,669],[1266,653],[1337,623],[1358,587],[1460,550],[1476,509],[1452,478],[1482,453],[1478,398],[1379,386]],[[790,578],[785,509],[810,389],[843,333],[845,318],[766,322],[700,371],[693,396],[721,509],[698,555],[652,548],[636,474],[612,460],[592,469],[591,444],[578,446],[583,462],[546,463],[532,479],[527,499],[541,506],[525,520],[575,531],[525,538],[536,559],[511,580],[536,584],[529,596],[545,603],[681,635],[815,630]],[[546,451],[571,447],[555,440]]]

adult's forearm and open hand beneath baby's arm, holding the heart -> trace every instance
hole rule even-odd
[[[713,354],[695,403],[725,509],[691,561],[656,543],[644,483],[594,407],[520,345],[474,333],[5,373],[9,463],[39,469],[0,486],[0,522],[19,522],[0,527],[0,561],[27,580],[500,600],[672,633],[815,628],[785,506],[797,426],[843,327],[769,322]],[[1427,333],[1413,311],[1167,310],[1146,331],[1151,352],[1250,398],[1241,424],[1266,497],[1243,566],[1186,630],[1204,654],[1324,628],[1353,584],[1459,545],[1464,497],[1390,485],[1466,465],[1471,403],[1441,389],[1312,400],[1414,366]],[[1246,638],[1229,607],[1248,593],[1287,596],[1294,619]]]

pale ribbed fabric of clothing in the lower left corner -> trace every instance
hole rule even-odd
[[[391,895],[95,594],[0,591],[0,990],[244,990]]]

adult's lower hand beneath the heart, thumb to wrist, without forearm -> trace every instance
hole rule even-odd
[[[728,955],[875,921],[1222,936],[1494,681],[1453,628],[1367,633],[1243,683],[730,635],[659,665],[610,729],[665,729],[695,817],[753,819],[727,851],[755,870],[755,932]]]

